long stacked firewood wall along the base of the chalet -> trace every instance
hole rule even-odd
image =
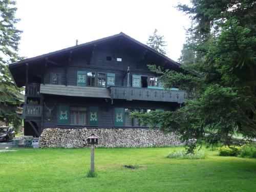
[[[40,147],[84,147],[86,138],[94,133],[101,137],[98,147],[152,147],[182,145],[172,133],[146,129],[45,129]]]

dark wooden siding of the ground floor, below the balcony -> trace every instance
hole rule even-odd
[[[124,101],[124,100],[114,100],[113,105],[111,101],[106,101],[105,99],[96,98],[80,98],[80,97],[64,97],[55,95],[45,96],[46,105],[52,110],[51,120],[44,118],[42,127],[95,127],[90,125],[58,125],[58,105],[70,105],[70,106],[97,106],[98,107],[98,126],[99,128],[114,128],[114,111],[115,108],[133,108],[133,109],[159,109],[159,110],[170,110],[174,111],[179,107],[178,103],[175,102],[148,102],[148,101]],[[47,110],[44,108],[44,117],[46,117]],[[134,126],[133,126],[134,127]]]

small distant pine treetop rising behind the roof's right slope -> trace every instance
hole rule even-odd
[[[164,41],[164,36],[157,34],[157,29],[155,29],[153,35],[150,35],[147,40],[147,46],[156,50],[157,52],[166,55],[165,46],[166,41]]]

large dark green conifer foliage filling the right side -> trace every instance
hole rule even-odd
[[[193,58],[186,60],[193,62],[183,65],[187,73],[150,66],[162,75],[165,88],[187,91],[186,103],[174,112],[133,113],[132,117],[152,126],[160,124],[162,130],[180,135],[189,143],[187,152],[194,152],[203,140],[210,145],[220,141],[230,145],[237,133],[255,138],[256,3],[190,2],[191,6],[178,5],[192,22],[185,46],[193,52]]]

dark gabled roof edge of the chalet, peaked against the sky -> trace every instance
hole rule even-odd
[[[116,35],[112,35],[112,36],[109,36],[109,37],[104,37],[104,38],[101,38],[101,39],[98,39],[98,40],[93,40],[93,41],[86,42],[84,44],[80,44],[80,45],[77,45],[77,46],[73,46],[73,47],[69,47],[69,48],[66,48],[66,49],[61,49],[61,50],[58,50],[58,51],[50,52],[50,53],[39,55],[39,56],[36,56],[36,57],[31,57],[31,58],[23,59],[23,60],[20,60],[20,61],[17,61],[17,62],[13,62],[9,65],[9,68],[15,67],[16,65],[19,65],[19,64],[22,64],[22,63],[36,61],[38,59],[50,57],[50,56],[53,56],[53,55],[57,55],[57,54],[65,53],[65,52],[70,52],[72,50],[76,50],[76,49],[80,49],[80,48],[84,48],[84,47],[89,47],[89,46],[92,46],[94,44],[98,44],[98,43],[102,43],[102,42],[105,42],[105,41],[110,41],[110,40],[116,39],[118,37],[124,37],[124,38],[126,38],[126,39],[128,39],[132,42],[135,42],[138,46],[141,46],[144,49],[146,49],[147,51],[150,51],[150,52],[154,53],[156,56],[161,57],[166,61],[169,61],[169,63],[171,63],[173,66],[180,67],[180,63],[178,63],[178,62],[170,59],[169,57],[166,57],[165,55],[155,51],[154,49],[142,44],[140,41],[124,34],[123,32],[120,32],[119,34],[116,34]]]

